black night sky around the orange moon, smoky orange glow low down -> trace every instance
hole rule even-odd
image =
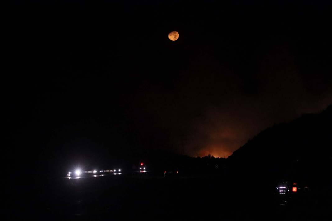
[[[332,103],[327,3],[88,2],[10,9],[12,151],[52,163],[155,149],[228,157]]]

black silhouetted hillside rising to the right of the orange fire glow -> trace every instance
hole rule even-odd
[[[331,168],[332,105],[319,114],[305,114],[274,125],[228,157],[232,174],[278,179],[293,176],[326,177]]]

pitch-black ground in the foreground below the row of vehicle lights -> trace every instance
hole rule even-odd
[[[281,206],[264,184],[218,176],[49,179],[17,198],[14,217],[42,220],[328,220],[331,199]],[[32,198],[31,198],[32,197]],[[323,198],[324,198],[323,197]]]

